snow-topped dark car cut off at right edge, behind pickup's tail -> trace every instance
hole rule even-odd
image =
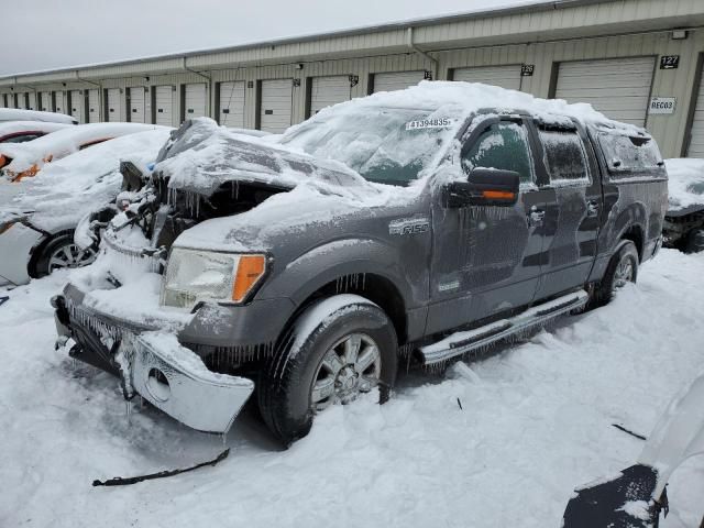
[[[669,206],[664,245],[686,253],[704,251],[704,160],[667,160]]]

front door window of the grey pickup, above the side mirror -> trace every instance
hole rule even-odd
[[[534,182],[532,157],[526,128],[517,123],[494,123],[486,128],[462,155],[462,168],[498,168],[519,174],[520,183]]]

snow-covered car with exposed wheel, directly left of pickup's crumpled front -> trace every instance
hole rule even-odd
[[[0,186],[0,197],[8,196],[6,188],[19,193],[0,200],[0,285],[91,262],[94,252],[73,240],[78,221],[114,200],[121,160],[129,157],[147,172],[170,130],[160,127],[106,141],[45,166],[35,178]]]

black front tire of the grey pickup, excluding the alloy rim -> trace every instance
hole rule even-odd
[[[296,320],[285,343],[262,370],[257,384],[262,418],[285,447],[310,431],[316,413],[312,389],[323,360],[336,343],[352,334],[364,334],[376,344],[381,359],[380,403],[388,398],[396,381],[398,344],[386,314],[355,295],[318,301]]]

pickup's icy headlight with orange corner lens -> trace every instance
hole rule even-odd
[[[243,302],[264,277],[265,255],[175,248],[162,286],[162,305],[193,308],[197,302]]]

